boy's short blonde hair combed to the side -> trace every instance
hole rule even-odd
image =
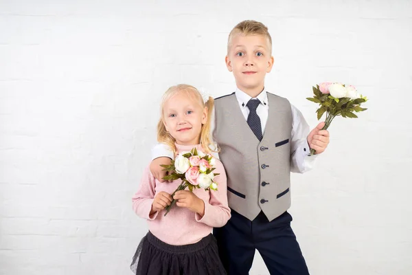
[[[233,36],[237,34],[246,35],[264,35],[268,39],[269,51],[272,53],[272,37],[271,34],[268,32],[268,28],[258,21],[254,20],[245,20],[233,28],[229,34],[229,38],[227,39],[227,53],[229,54],[229,50],[231,47],[231,40]]]

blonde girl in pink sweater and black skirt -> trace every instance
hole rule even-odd
[[[163,95],[157,140],[168,144],[175,153],[198,151],[211,153],[210,117],[213,98],[205,98],[190,85],[170,87]],[[130,268],[135,274],[226,274],[218,256],[214,227],[222,227],[231,217],[227,205],[227,178],[222,163],[216,159],[214,178],[218,190],[196,188],[170,194],[181,179],[168,183],[157,181],[149,167],[137,193],[133,209],[148,220],[149,232],[141,240]],[[176,199],[176,205],[164,216],[164,208]]]

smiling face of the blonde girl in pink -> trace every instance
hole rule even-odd
[[[178,92],[163,106],[163,123],[177,144],[199,144],[202,124],[206,122],[207,108],[187,93]]]

